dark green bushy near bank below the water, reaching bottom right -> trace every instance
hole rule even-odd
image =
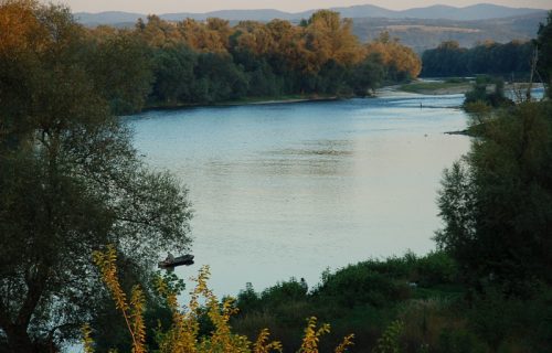
[[[552,347],[551,327],[543,324],[552,314],[550,295],[546,289],[526,301],[490,286],[470,292],[445,253],[406,254],[325,272],[311,288],[296,279],[263,292],[248,286],[232,327],[250,339],[268,328],[285,351],[298,346],[305,318],[315,315],[331,323],[321,352],[349,333],[355,335],[351,352],[372,352],[381,336],[395,331],[400,352],[544,352]]]

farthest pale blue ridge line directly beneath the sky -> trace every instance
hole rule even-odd
[[[517,15],[527,15],[530,13],[543,11],[543,9],[529,9],[529,8],[509,8],[496,6],[490,3],[480,3],[466,8],[455,8],[449,6],[432,6],[426,8],[416,8],[402,11],[393,11],[384,8],[375,7],[372,4],[354,6],[348,8],[332,8],[331,10],[338,11],[343,18],[385,18],[385,19],[448,19],[456,21],[475,21],[487,19],[510,18]],[[230,21],[240,20],[254,20],[254,21],[270,21],[274,19],[282,20],[300,20],[309,18],[316,9],[290,13],[279,10],[221,10],[205,13],[164,13],[159,17],[169,21],[181,21],[185,18],[195,20],[205,20],[208,18],[221,18]],[[76,19],[86,25],[97,24],[117,24],[136,22],[139,18],[146,18],[146,14],[130,13],[130,12],[77,12]]]

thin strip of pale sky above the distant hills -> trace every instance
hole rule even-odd
[[[278,9],[298,12],[309,9],[367,3],[391,10],[404,10],[437,3],[465,7],[480,2],[513,8],[552,9],[552,0],[53,0],[53,2],[67,4],[73,12],[127,11],[139,13],[209,12],[227,9]]]

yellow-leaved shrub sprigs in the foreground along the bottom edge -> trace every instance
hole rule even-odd
[[[91,327],[88,323],[82,328],[83,345],[86,353],[96,350],[114,352],[119,350],[132,353],[146,353],[153,351],[158,353],[268,353],[283,352],[279,341],[269,342],[270,332],[263,328],[258,330],[255,340],[245,335],[234,333],[230,325],[230,319],[237,312],[233,298],[225,298],[222,302],[208,287],[210,276],[209,267],[200,269],[197,278],[192,281],[195,287],[189,292],[190,301],[180,307],[177,296],[183,289],[182,282],[174,281],[174,277],[164,276],[155,279],[156,296],[162,302],[162,307],[169,314],[169,320],[162,324],[159,320],[155,331],[146,319],[146,297],[141,286],[136,285],[127,296],[123,289],[117,272],[117,253],[113,245],[104,250],[94,252],[96,264],[103,282],[115,302],[115,309],[123,320],[121,330],[117,331],[120,336],[112,336],[106,340],[104,328]],[[291,286],[293,287],[293,286]],[[293,291],[285,287],[284,296]],[[282,289],[282,288],[280,288]],[[149,328],[149,330],[148,330]],[[393,329],[393,328],[391,328]],[[318,324],[316,317],[307,319],[307,325],[297,344],[298,353],[318,353],[320,339],[330,332],[328,323]],[[153,333],[153,334],[151,334]],[[396,330],[390,330],[381,339],[382,347],[396,344]],[[344,335],[336,345],[335,353],[344,353],[351,345],[354,334]],[[98,340],[103,341],[98,344]],[[391,340],[391,341],[390,341]]]

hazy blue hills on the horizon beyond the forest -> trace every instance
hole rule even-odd
[[[353,19],[353,31],[363,42],[379,36],[382,31],[390,32],[402,43],[416,52],[435,47],[443,41],[458,41],[461,46],[473,46],[477,42],[491,40],[509,42],[529,40],[537,35],[539,23],[546,19],[546,10],[514,9],[488,3],[466,8],[432,6],[403,11],[364,4],[349,8],[333,8],[343,18]],[[160,18],[167,21],[181,21],[192,18],[203,21],[208,18],[222,18],[235,24],[241,20],[270,21],[273,19],[298,22],[309,18],[316,10],[288,13],[278,10],[221,10],[208,13],[164,13]],[[78,12],[75,18],[83,24],[95,26],[110,24],[131,26],[139,18],[147,15],[130,12]]]

